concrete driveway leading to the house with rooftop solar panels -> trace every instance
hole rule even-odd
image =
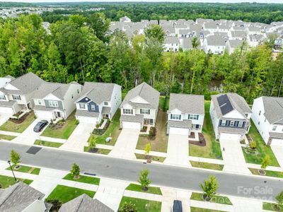
[[[220,139],[220,146],[224,160],[224,171],[251,175],[243,157],[240,141]]]

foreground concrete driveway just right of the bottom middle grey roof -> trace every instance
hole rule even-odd
[[[93,199],[98,199],[103,204],[117,211],[128,182],[116,179],[100,179],[100,184]]]

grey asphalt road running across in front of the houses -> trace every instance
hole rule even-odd
[[[271,199],[283,190],[283,179],[236,175],[226,172],[196,170],[168,165],[144,164],[133,160],[110,158],[100,155],[74,153],[57,149],[42,148],[35,155],[26,153],[30,146],[2,142],[0,160],[8,160],[11,150],[21,154],[23,164],[68,171],[73,163],[81,167],[81,172],[101,177],[137,181],[143,168],[150,171],[149,178],[158,186],[199,190],[199,184],[209,175],[219,180],[219,193],[249,198]],[[266,180],[266,182],[264,182]]]

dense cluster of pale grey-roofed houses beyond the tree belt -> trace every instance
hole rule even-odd
[[[133,23],[127,16],[119,22],[112,22],[110,33],[115,30],[125,32],[129,40],[134,35],[144,35],[144,29],[150,25],[161,25],[166,33],[165,52],[178,52],[193,49],[192,37],[200,42],[199,49],[212,54],[223,54],[225,50],[231,54],[246,41],[249,47],[262,45],[269,36],[275,36],[274,51],[283,47],[283,22],[250,23],[242,20],[212,20],[197,18],[194,20],[141,20]]]

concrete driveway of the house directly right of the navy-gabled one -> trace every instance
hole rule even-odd
[[[134,151],[139,140],[139,129],[122,129],[114,148],[109,155],[117,158],[136,159]]]

